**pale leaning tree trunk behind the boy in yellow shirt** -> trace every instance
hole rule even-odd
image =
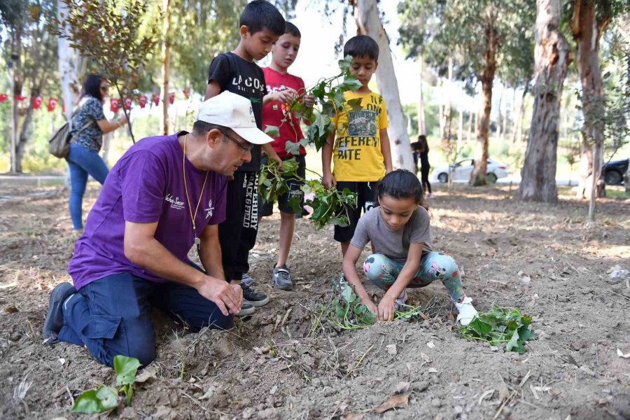
[[[402,112],[391,50],[387,34],[381,22],[377,1],[357,0],[355,4],[354,19],[356,20],[358,33],[370,36],[379,45],[379,66],[377,67],[376,76],[379,90],[387,106],[392,164],[395,168],[414,172],[414,159],[409,145],[405,113]]]

